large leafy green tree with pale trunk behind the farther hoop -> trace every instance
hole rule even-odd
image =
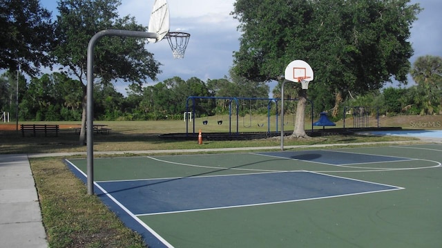
[[[419,4],[409,0],[237,0],[232,12],[240,21],[240,50],[233,70],[258,81],[281,80],[294,59],[307,61],[318,95],[334,94],[337,106],[350,92],[381,88],[395,77],[406,81],[412,46],[410,26]],[[297,115],[303,115],[305,90],[299,90]],[[302,113],[301,113],[302,112]],[[296,126],[303,123],[296,119]],[[303,130],[294,135],[305,136]]]

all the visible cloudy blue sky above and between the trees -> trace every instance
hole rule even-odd
[[[122,5],[118,8],[119,15],[130,15],[135,17],[137,23],[148,26],[153,2],[154,0],[122,0]],[[157,82],[175,76],[184,80],[198,77],[204,82],[207,79],[229,76],[233,52],[238,51],[240,46],[240,32],[237,30],[239,23],[230,15],[234,2],[235,0],[168,0],[170,31],[189,32],[191,37],[184,59],[173,59],[166,39],[147,45],[155,59],[163,64],[160,68],[162,73],[157,75]],[[42,7],[52,11],[53,16],[57,15],[57,1],[41,0],[40,3]],[[442,28],[438,21],[442,1],[412,0],[411,3],[420,3],[424,9],[411,29],[410,42],[414,48],[411,63],[423,55],[442,57]],[[157,82],[148,82],[148,85]],[[409,85],[412,84],[410,82]],[[269,83],[271,89],[275,85],[275,82]],[[126,84],[117,83],[115,88],[125,93]]]

